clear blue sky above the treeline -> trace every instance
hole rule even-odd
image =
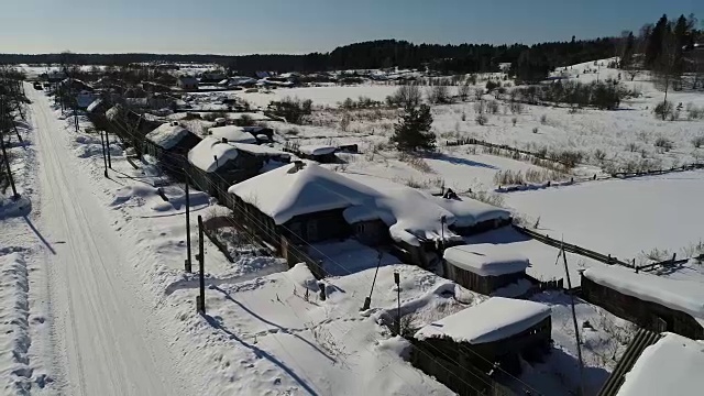
[[[3,0],[0,52],[308,53],[376,38],[536,43],[637,31],[702,0]]]

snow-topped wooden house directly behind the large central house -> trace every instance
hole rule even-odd
[[[189,177],[195,188],[224,201],[220,191],[258,175],[266,164],[289,160],[289,154],[267,146],[206,136],[188,152]]]

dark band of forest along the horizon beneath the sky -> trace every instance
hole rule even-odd
[[[684,20],[684,16],[680,16]],[[690,21],[695,21],[690,15]],[[667,21],[667,19],[666,19]],[[662,19],[658,25],[662,23]],[[642,30],[658,31],[646,24]],[[657,28],[657,25],[656,25]],[[694,31],[692,36],[700,35]],[[632,35],[631,35],[632,37]],[[512,44],[413,44],[398,40],[377,40],[337,47],[330,53],[305,55],[201,55],[201,54],[0,54],[6,64],[113,65],[162,62],[218,64],[229,70],[252,75],[255,72],[326,72],[340,69],[375,69],[398,66],[425,68],[443,74],[498,72],[501,64],[512,64],[517,77],[534,80],[547,76],[559,66],[620,56],[620,37],[548,42],[535,45]]]

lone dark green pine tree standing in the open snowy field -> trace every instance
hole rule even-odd
[[[419,108],[406,107],[405,113],[394,127],[391,142],[398,151],[410,152],[417,150],[436,150],[436,135],[430,132],[432,116],[430,107],[421,105]]]

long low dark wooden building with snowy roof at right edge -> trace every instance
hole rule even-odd
[[[582,298],[656,332],[704,339],[704,287],[613,265],[582,274]]]

